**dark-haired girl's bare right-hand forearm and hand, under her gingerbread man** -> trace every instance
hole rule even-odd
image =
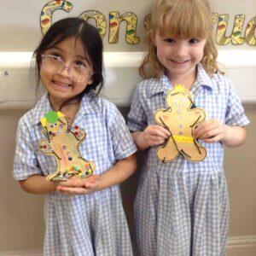
[[[60,182],[57,191],[67,195],[90,194],[113,185],[122,183],[137,169],[136,154],[119,160],[115,166],[102,175],[92,175],[88,178],[72,177],[66,182]]]

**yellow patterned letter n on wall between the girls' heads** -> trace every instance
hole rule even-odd
[[[140,42],[140,38],[136,37],[137,15],[131,12],[127,12],[121,16],[119,16],[119,12],[109,13],[108,42],[110,44],[117,44],[119,42],[119,24],[123,20],[127,22],[126,42],[128,44],[138,44]]]

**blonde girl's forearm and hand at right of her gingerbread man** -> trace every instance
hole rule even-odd
[[[211,119],[195,128],[194,137],[206,143],[221,141],[225,146],[234,148],[245,142],[247,133],[241,126],[224,125],[218,119]]]

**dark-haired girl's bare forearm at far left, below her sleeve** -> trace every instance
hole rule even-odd
[[[47,194],[55,192],[57,183],[51,182],[41,175],[32,175],[25,180],[20,180],[20,187],[32,194]]]

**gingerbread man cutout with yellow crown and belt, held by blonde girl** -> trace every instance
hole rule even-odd
[[[176,160],[179,154],[192,162],[204,160],[207,149],[193,137],[195,125],[206,119],[202,108],[191,108],[192,95],[182,85],[177,84],[166,96],[169,108],[161,108],[154,113],[159,125],[166,127],[171,136],[157,149],[157,157],[163,162]]]

